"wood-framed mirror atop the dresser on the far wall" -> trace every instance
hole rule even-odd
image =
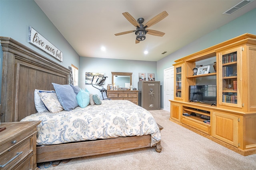
[[[117,88],[130,88],[132,85],[132,72],[111,72],[112,84]]]

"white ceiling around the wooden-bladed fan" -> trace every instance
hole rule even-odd
[[[42,11],[81,57],[158,61],[214,29],[256,8],[251,2],[231,15],[222,13],[241,0],[35,0]],[[135,44],[136,29],[124,16],[144,23],[166,11],[169,15],[150,29],[163,37],[146,34]],[[232,30],[231,30],[232,31]],[[102,51],[104,46],[106,51]],[[144,55],[147,50],[148,54]],[[167,51],[164,55],[162,52]]]

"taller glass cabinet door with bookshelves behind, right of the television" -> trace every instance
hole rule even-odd
[[[219,54],[219,104],[226,106],[242,107],[240,89],[241,83],[241,49],[231,49]]]

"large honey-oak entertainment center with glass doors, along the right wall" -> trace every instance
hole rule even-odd
[[[193,75],[197,62],[212,59],[216,72]],[[256,35],[240,35],[178,59],[173,66],[170,121],[244,156],[256,154]],[[214,105],[189,100],[190,86],[204,78],[216,80]]]

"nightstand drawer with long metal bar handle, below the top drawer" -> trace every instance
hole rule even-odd
[[[8,169],[12,164],[21,161],[21,158],[28,154],[29,152],[32,153],[33,150],[30,149],[31,147],[31,138],[26,139],[16,147],[13,147],[12,149],[8,150],[7,152],[0,155],[0,164],[6,166],[2,167],[1,170]]]

